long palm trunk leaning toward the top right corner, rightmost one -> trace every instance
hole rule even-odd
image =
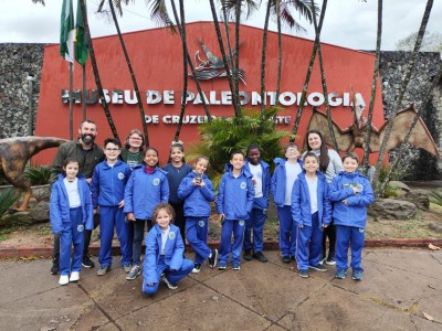
[[[390,135],[391,135],[391,129],[393,127],[393,121],[394,121],[394,117],[398,114],[398,111],[401,109],[402,107],[402,100],[403,100],[403,96],[407,92],[407,87],[408,84],[410,83],[410,78],[411,78],[411,74],[414,70],[414,64],[415,64],[415,60],[418,58],[418,54],[419,54],[419,50],[421,49],[421,44],[422,44],[422,38],[423,34],[425,33],[425,29],[427,29],[427,23],[430,19],[430,13],[431,13],[431,9],[433,7],[433,0],[428,0],[427,1],[427,6],[425,6],[425,11],[423,13],[423,18],[422,18],[422,22],[421,22],[421,26],[419,29],[419,33],[418,36],[415,39],[415,44],[414,44],[414,49],[413,52],[411,54],[411,58],[408,63],[407,70],[406,70],[406,74],[403,76],[402,79],[402,85],[401,88],[399,89],[399,95],[396,99],[396,105],[393,108],[393,111],[391,111],[391,114],[388,117],[388,124],[386,127],[386,134],[383,136],[383,140],[382,143],[380,146],[380,150],[379,150],[379,159],[378,159],[378,163],[376,164],[376,172],[375,172],[375,177],[373,177],[373,183],[377,183],[379,181],[379,174],[380,174],[380,170],[382,168],[383,164],[383,157],[386,153],[386,149],[387,149],[387,142],[388,139],[390,139]],[[376,189],[376,193],[380,193],[379,189]]]

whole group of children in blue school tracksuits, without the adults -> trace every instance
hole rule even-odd
[[[265,263],[263,227],[271,192],[277,206],[284,263],[296,260],[302,277],[308,277],[308,268],[326,270],[319,264],[322,233],[333,217],[338,231],[336,277],[345,278],[350,244],[352,278],[362,279],[366,206],[373,194],[368,180],[357,172],[356,154],[343,158],[344,172],[327,184],[315,153],[307,152],[301,161],[297,146],[288,143],[286,159],[275,159],[271,177],[270,166],[261,160],[260,147],[253,143],[246,154],[231,154],[215,199],[206,174],[209,159],[198,157],[192,169],[185,161],[182,143],[171,146],[164,169],[158,167],[158,151],[152,147],[139,151],[141,163],[130,166],[119,159],[120,149],[117,139],[105,140],[106,160],[96,166],[91,186],[78,175],[78,161],[74,159],[66,159],[65,174],[59,175],[53,185],[51,224],[53,232],[61,234],[60,285],[80,279],[82,233],[92,229],[93,213],[99,213],[101,225],[97,275],[110,270],[115,228],[126,279],[143,273],[146,295],[155,293],[161,280],[177,288],[179,279],[199,273],[206,260],[211,268],[218,264],[220,270],[227,269],[230,255],[232,269],[240,270],[242,253],[246,260]],[[222,224],[219,252],[208,246],[213,201]],[[145,224],[148,233],[141,270]],[[185,257],[186,238],[194,250],[194,261]]]

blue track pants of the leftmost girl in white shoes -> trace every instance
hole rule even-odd
[[[63,222],[60,235],[60,275],[67,276],[71,271],[81,271],[84,245],[84,224],[82,207],[70,210],[71,222]],[[74,253],[71,261],[71,247]]]

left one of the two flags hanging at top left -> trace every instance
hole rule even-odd
[[[60,29],[60,55],[74,63],[74,12],[72,0],[63,0]]]

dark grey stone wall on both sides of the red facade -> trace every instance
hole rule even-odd
[[[29,86],[27,76],[32,74],[32,110],[35,118],[40,93],[40,78],[43,64],[44,44],[0,44],[0,139],[29,135]],[[389,114],[394,107],[409,52],[382,52],[381,82],[383,110]],[[420,53],[414,75],[408,86],[402,108],[414,103],[442,150],[442,82],[423,105],[423,96],[442,65],[439,53]],[[35,120],[33,120],[35,125]],[[34,128],[33,128],[34,129]],[[391,152],[394,157],[394,151]],[[408,180],[442,180],[442,159],[427,151],[408,148],[403,157],[402,174]]]

